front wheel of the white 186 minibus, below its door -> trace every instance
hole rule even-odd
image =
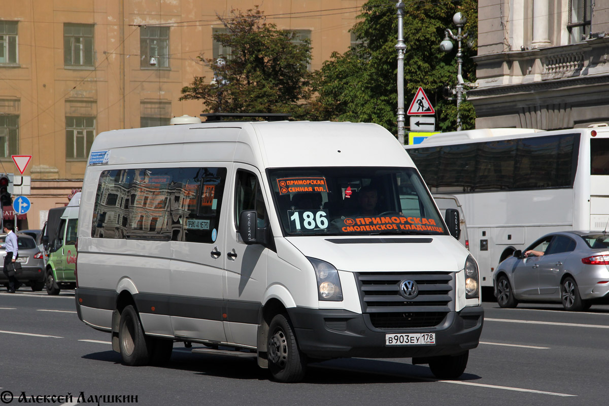
[[[292,324],[283,314],[273,317],[267,338],[269,371],[278,382],[299,382],[305,377],[306,356],[298,349]]]

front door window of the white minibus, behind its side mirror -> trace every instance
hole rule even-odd
[[[237,172],[234,208],[234,225],[236,229],[239,229],[239,214],[244,210],[255,210],[258,212],[258,227],[267,225],[267,211],[264,205],[260,182],[252,172],[247,172],[246,170],[239,170]]]

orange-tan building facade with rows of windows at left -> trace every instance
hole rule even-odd
[[[213,79],[197,55],[223,52],[218,16],[259,4],[267,22],[311,39],[316,70],[347,51],[364,2],[0,0],[0,172],[18,174],[11,155],[32,155],[32,208],[19,228],[41,228],[82,187],[100,132],[199,116],[200,102],[178,99],[193,77]]]

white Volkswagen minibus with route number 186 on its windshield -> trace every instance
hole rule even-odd
[[[166,363],[182,341],[256,357],[282,382],[336,357],[412,357],[454,378],[484,312],[448,220],[378,125],[108,131],[83,183],[77,312],[127,365]]]

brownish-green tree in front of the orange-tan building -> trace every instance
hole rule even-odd
[[[214,80],[195,77],[182,88],[180,100],[202,100],[209,113],[291,113],[300,117],[303,103],[310,95],[311,42],[295,37],[294,32],[279,30],[266,23],[256,7],[230,18],[219,17],[224,33],[213,38],[231,54],[225,63],[199,55],[199,60],[214,71]]]

